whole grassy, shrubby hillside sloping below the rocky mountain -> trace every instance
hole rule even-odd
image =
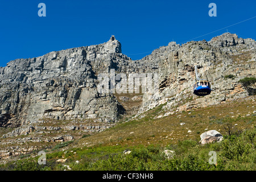
[[[37,152],[0,166],[2,170],[255,170],[255,97],[159,117],[160,105],[143,117],[123,119],[115,127],[46,149],[47,164]],[[180,125],[180,123],[185,123]],[[229,126],[229,127],[228,127]],[[217,130],[220,143],[201,146],[200,134]],[[164,150],[175,151],[167,159]],[[130,150],[125,155],[123,151]],[[217,164],[209,164],[209,152]],[[57,159],[67,159],[57,163]],[[67,165],[67,166],[65,166]]]

